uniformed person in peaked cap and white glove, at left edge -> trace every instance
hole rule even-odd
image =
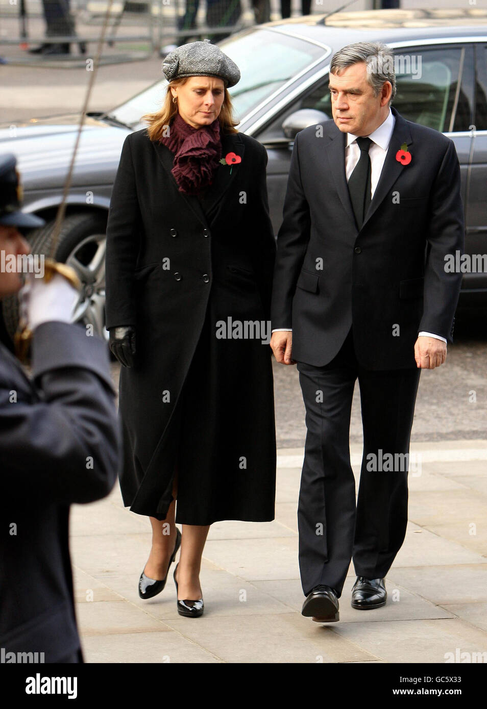
[[[20,208],[16,158],[1,155],[6,261],[30,252],[19,229],[44,224]],[[18,272],[0,273],[1,298],[21,286]],[[82,662],[70,504],[99,500],[114,486],[121,440],[115,392],[105,343],[70,323],[78,294],[68,281],[29,273],[20,295],[33,331],[31,379],[0,344],[0,648],[6,662],[26,652],[43,653],[45,662]]]

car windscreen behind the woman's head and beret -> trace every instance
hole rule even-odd
[[[306,40],[257,28],[244,30],[219,43],[219,47],[240,69],[240,81],[229,89],[234,115],[239,122],[285,82],[331,53],[331,49]],[[141,116],[158,111],[167,85],[165,79],[153,84],[114,108],[110,115],[135,130],[142,128]]]

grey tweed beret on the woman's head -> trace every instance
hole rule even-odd
[[[183,77],[219,77],[225,86],[240,81],[240,69],[209,40],[181,45],[165,57],[163,72],[168,82]]]

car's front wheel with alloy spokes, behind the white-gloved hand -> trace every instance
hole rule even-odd
[[[33,254],[50,255],[54,221],[31,232],[28,240]],[[99,214],[72,214],[62,223],[55,259],[70,265],[82,282],[80,301],[73,322],[92,325],[93,332],[108,342],[105,329],[105,250],[106,218]],[[3,315],[10,337],[18,325],[18,298],[3,301]]]

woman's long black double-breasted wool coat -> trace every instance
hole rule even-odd
[[[185,524],[274,518],[267,153],[243,133],[221,132],[221,149],[240,162],[200,198],[179,191],[168,147],[128,135],[107,226],[106,327],[136,328],[119,389],[124,503],[164,519],[177,469]]]

